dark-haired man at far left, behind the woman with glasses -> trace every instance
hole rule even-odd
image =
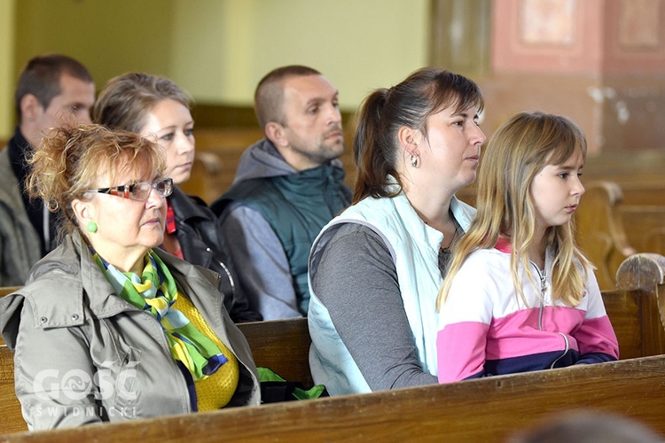
[[[27,161],[51,128],[90,123],[95,84],[74,58],[32,58],[15,93],[19,125],[0,151],[0,286],[25,284],[30,268],[56,243],[57,223],[41,200],[27,197]]]

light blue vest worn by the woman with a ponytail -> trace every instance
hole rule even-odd
[[[460,227],[468,229],[475,209],[454,197],[450,209]],[[420,364],[423,370],[435,376],[438,331],[436,296],[442,284],[438,256],[443,234],[427,226],[402,193],[395,198],[364,198],[330,221],[312,245],[309,255],[308,320],[312,338],[309,368],[314,382],[325,385],[331,395],[372,392],[332,325],[327,308],[311,290],[311,276],[317,272],[325,246],[336,230],[348,222],[372,228],[386,242],[395,262],[404,310]]]

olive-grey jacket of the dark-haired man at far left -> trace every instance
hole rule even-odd
[[[19,286],[42,253],[6,147],[0,151],[0,177],[0,286]]]

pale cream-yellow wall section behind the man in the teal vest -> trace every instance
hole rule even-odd
[[[428,4],[176,0],[171,72],[200,101],[251,105],[270,69],[309,65],[340,89],[342,107],[355,110],[371,89],[426,65]]]

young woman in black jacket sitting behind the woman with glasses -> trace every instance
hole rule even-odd
[[[180,184],[189,180],[194,161],[194,120],[189,98],[174,82],[156,75],[129,73],[111,79],[92,110],[95,123],[136,132],[160,144],[166,154],[165,176]],[[215,214],[198,197],[174,187],[167,198],[167,223],[160,247],[192,264],[212,269],[222,278],[220,291],[234,322],[255,322],[262,316],[235,283],[235,271]]]

